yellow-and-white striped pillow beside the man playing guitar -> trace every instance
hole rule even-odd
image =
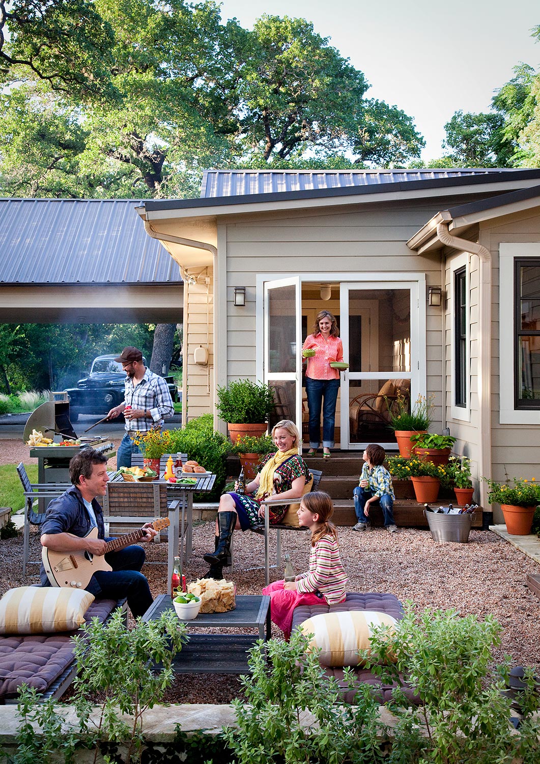
[[[73,631],[84,623],[94,595],[84,589],[21,586],[0,600],[0,634]]]

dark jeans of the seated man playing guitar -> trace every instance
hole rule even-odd
[[[138,545],[126,546],[118,552],[108,552],[105,560],[111,565],[112,571],[96,571],[86,591],[95,597],[112,600],[127,597],[133,617],[144,615],[154,602],[146,576],[141,573],[144,558],[144,549]]]

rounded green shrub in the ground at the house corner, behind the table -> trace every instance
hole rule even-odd
[[[210,494],[195,494],[202,500],[215,500],[221,494],[227,477],[227,454],[231,445],[225,435],[214,430],[212,414],[190,419],[183,429],[170,430],[171,453],[187,454],[216,476]]]

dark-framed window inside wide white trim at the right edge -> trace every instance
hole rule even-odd
[[[540,410],[540,259],[514,261],[514,405]]]

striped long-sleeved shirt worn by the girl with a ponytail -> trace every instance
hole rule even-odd
[[[307,594],[320,591],[329,605],[344,601],[347,574],[341,564],[338,542],[334,536],[322,536],[312,546],[309,572],[296,581],[296,591]]]

